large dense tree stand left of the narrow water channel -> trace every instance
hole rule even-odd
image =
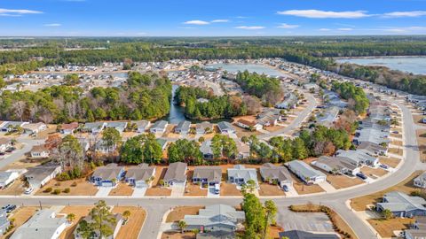
[[[0,96],[1,120],[44,123],[95,120],[157,119],[170,111],[171,83],[157,74],[129,73],[120,88],[52,86],[32,92],[4,91]]]

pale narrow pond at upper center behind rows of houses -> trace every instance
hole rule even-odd
[[[222,68],[230,73],[237,73],[248,70],[250,73],[264,73],[271,76],[286,76],[285,73],[281,73],[279,70],[260,64],[212,64],[209,65],[209,67]]]

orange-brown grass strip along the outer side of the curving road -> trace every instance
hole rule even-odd
[[[401,181],[395,186],[390,187],[389,189],[384,189],[383,191],[376,192],[374,194],[366,195],[363,197],[355,197],[351,199],[351,207],[355,211],[365,211],[367,209],[367,205],[375,204],[379,202],[379,200],[383,197],[383,195],[390,191],[400,191],[406,194],[410,194],[412,191],[417,188],[413,185],[413,179],[420,175],[422,171],[416,171],[411,174],[405,181]]]

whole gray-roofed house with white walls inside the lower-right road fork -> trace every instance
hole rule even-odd
[[[426,200],[422,197],[408,196],[405,193],[392,191],[383,196],[382,203],[376,204],[376,210],[390,210],[395,217],[411,218],[426,216]]]

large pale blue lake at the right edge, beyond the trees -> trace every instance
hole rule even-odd
[[[386,66],[401,72],[426,74],[426,58],[396,57],[396,58],[336,58],[335,61],[349,62],[363,66]]]

